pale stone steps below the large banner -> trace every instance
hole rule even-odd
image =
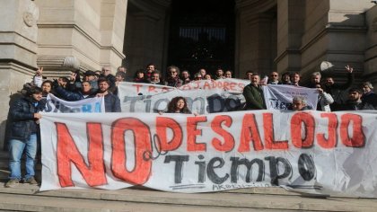
[[[15,188],[4,188],[7,175],[7,156],[1,153],[0,211],[377,211],[376,199],[324,199],[281,188],[197,194],[171,193],[142,187],[39,192],[38,186],[22,183]]]

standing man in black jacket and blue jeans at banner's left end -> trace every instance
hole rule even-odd
[[[21,157],[23,151],[26,155],[26,174],[24,182],[38,184],[34,179],[34,160],[37,154],[37,139],[39,132],[39,111],[43,110],[46,102],[42,100],[42,90],[33,87],[28,96],[15,101],[9,109],[12,127],[9,140],[9,169],[11,174],[5,187],[15,186],[22,180]]]

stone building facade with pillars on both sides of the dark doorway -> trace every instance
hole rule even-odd
[[[10,96],[38,66],[54,78],[72,69],[111,66],[114,74],[125,65],[132,74],[151,62],[162,71],[171,65],[174,1],[0,0],[0,145]],[[370,1],[232,1],[227,45],[236,77],[248,70],[305,76],[330,61],[338,81],[348,64],[360,81],[377,84],[377,6]]]

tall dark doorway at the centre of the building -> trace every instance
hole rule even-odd
[[[173,0],[168,66],[233,69],[234,16],[234,0]]]

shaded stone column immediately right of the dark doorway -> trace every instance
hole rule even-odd
[[[276,1],[236,1],[236,77],[267,75],[276,57]]]

